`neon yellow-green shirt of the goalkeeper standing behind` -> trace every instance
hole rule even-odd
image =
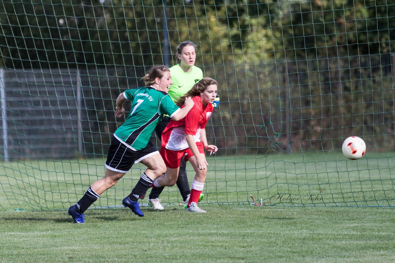
[[[169,68],[173,84],[169,88],[169,95],[173,101],[185,95],[192,87],[203,78],[203,71],[196,66],[188,73],[183,71],[180,64]]]

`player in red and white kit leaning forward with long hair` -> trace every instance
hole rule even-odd
[[[205,213],[197,205],[206,180],[207,165],[205,150],[211,154],[218,148],[207,144],[205,127],[213,113],[213,101],[217,95],[217,82],[212,78],[203,78],[190,91],[182,96],[177,105],[182,106],[187,97],[192,97],[194,107],[185,118],[170,121],[162,132],[160,155],[164,159],[167,171],[153,183],[154,187],[173,186],[177,181],[180,160],[190,161],[196,174],[192,182],[191,195],[186,211]]]

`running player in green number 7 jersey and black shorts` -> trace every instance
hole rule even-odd
[[[162,157],[149,141],[150,135],[164,114],[180,120],[194,103],[188,98],[181,109],[173,103],[167,94],[173,82],[169,69],[164,65],[153,66],[143,80],[145,87],[124,91],[117,98],[115,117],[119,118],[124,114],[123,104],[126,100],[132,102],[132,110],[126,121],[115,131],[105,163],[104,177],[94,182],[84,196],[69,208],[68,213],[75,223],[85,223],[84,212],[88,207],[138,162],[147,166],[147,170],[122,203],[136,215],[144,216],[137,200],[147,192],[156,178],[166,172]]]

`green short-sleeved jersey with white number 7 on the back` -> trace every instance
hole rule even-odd
[[[152,87],[126,90],[123,95],[132,101],[132,108],[114,136],[134,151],[147,146],[152,132],[164,114],[171,118],[180,110],[166,92]]]

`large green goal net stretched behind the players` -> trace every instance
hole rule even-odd
[[[124,121],[115,99],[185,40],[219,83],[203,204],[395,205],[395,4],[238,2],[1,0],[0,210],[81,198]],[[352,135],[356,161],[341,152]],[[144,170],[94,207],[120,205]],[[182,203],[175,186],[160,198]]]

